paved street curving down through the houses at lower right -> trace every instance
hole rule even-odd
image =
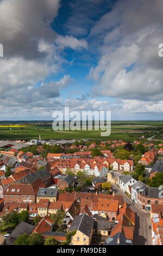
[[[131,210],[136,213],[135,218],[135,245],[152,245],[152,231],[149,230],[150,213],[139,209],[136,204],[132,204],[131,200],[117,185],[113,185],[115,194],[122,194],[125,202],[130,205]]]

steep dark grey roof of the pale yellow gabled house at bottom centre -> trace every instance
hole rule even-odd
[[[76,216],[71,224],[68,231],[79,230],[86,236],[90,237],[93,229],[94,220],[87,214],[80,214]]]

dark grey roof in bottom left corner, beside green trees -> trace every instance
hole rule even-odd
[[[12,231],[12,233],[8,236],[8,238],[5,240],[5,243],[7,245],[14,245],[15,240],[17,239],[18,236],[27,233],[30,234],[32,233],[32,230],[35,227],[33,225],[30,225],[26,222],[21,222],[18,224],[18,226]]]

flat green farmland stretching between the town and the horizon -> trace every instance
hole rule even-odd
[[[3,127],[12,124],[12,126]],[[27,125],[17,126],[13,125]],[[30,126],[31,125],[31,126]],[[52,122],[0,122],[0,139],[136,139],[155,136],[163,138],[163,121],[112,121],[111,135],[101,137],[101,131],[53,131]]]

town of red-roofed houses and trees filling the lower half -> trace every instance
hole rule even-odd
[[[163,143],[0,141],[2,245],[162,245]]]

